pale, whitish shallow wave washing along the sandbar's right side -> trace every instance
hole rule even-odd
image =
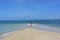
[[[39,30],[45,30],[45,31],[50,31],[50,32],[59,32],[60,33],[60,29],[55,28],[53,26],[49,26],[49,25],[45,25],[45,24],[35,24],[32,26],[33,26],[33,28],[36,28]]]

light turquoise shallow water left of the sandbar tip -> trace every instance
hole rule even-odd
[[[26,28],[26,24],[19,24],[19,23],[8,23],[8,24],[0,24],[0,34],[2,33],[6,33],[9,31],[14,31],[17,29],[22,29],[22,28]]]

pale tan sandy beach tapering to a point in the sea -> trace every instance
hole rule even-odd
[[[2,40],[60,40],[60,33],[26,28],[4,37]]]

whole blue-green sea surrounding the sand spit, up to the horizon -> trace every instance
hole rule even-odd
[[[0,37],[29,28],[30,23],[32,28],[60,33],[60,20],[0,20]]]

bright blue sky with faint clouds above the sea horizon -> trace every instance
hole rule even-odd
[[[60,0],[0,0],[0,20],[60,19]]]

